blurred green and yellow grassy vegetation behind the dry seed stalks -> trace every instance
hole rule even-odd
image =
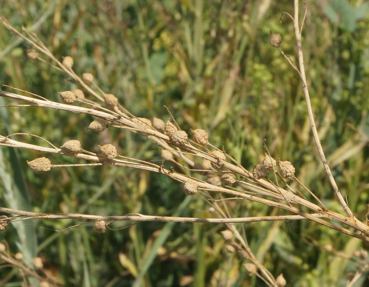
[[[207,130],[211,143],[224,145],[248,170],[261,163],[262,141],[267,139],[275,159],[291,161],[296,176],[328,208],[342,213],[317,154],[299,77],[268,43],[269,30],[280,33],[282,50],[296,63],[292,21],[285,16],[279,22],[283,11],[293,14],[292,0],[0,0],[0,7],[19,31],[24,25],[37,33],[56,58],[73,57],[78,75],[94,74],[100,88],[117,96],[135,116],[166,120],[165,104],[183,130]],[[302,18],[302,1],[300,12]],[[303,32],[320,139],[339,189],[364,222],[369,190],[368,13],[366,1],[308,1]],[[0,25],[1,84],[56,101],[57,92],[78,88],[65,74],[28,59],[29,48]],[[0,99],[5,103],[13,102]],[[159,148],[139,134],[86,131],[90,116],[37,107],[1,108],[0,113],[2,135],[27,132],[56,146],[79,139],[93,152],[98,144],[113,143],[121,155],[161,164]],[[45,145],[37,138],[14,138]],[[45,213],[210,216],[206,200],[186,198],[180,183],[162,175],[113,166],[69,167],[40,175],[25,161],[41,156],[54,164],[81,163],[0,148],[1,206]],[[228,206],[233,217],[284,214],[246,201]],[[266,286],[246,274],[241,256],[225,251],[222,224],[147,222],[105,234],[86,224],[54,231],[77,223],[81,221],[28,220],[12,224],[0,238],[27,262],[36,255],[44,258],[46,270],[66,286]],[[283,273],[287,286],[345,286],[346,274],[358,268],[307,244],[304,236],[348,256],[366,248],[307,220],[236,226],[241,232],[245,228],[257,258],[275,277]],[[21,286],[21,277],[17,270],[1,268],[0,283]],[[363,276],[355,286],[368,284]]]

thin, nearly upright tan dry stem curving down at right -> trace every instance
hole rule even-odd
[[[331,185],[334,189],[334,192],[335,192],[335,194],[338,198],[339,203],[341,203],[341,206],[345,210],[346,214],[349,217],[354,218],[354,214],[352,213],[352,211],[349,209],[348,205],[346,204],[346,202],[345,202],[344,198],[342,197],[341,192],[339,192],[337,184],[336,184],[336,182],[333,178],[332,172],[331,172],[331,170],[328,166],[328,163],[327,163],[327,159],[325,159],[323,148],[321,146],[321,142],[320,142],[319,136],[318,136],[318,131],[317,131],[317,128],[315,126],[313,110],[311,109],[309,91],[307,89],[307,84],[306,84],[304,58],[303,58],[303,54],[302,54],[301,32],[300,32],[300,28],[299,28],[299,0],[294,0],[294,20],[293,20],[293,24],[294,24],[294,30],[295,30],[295,35],[296,35],[296,41],[297,41],[297,53],[299,54],[300,73],[301,73],[303,91],[304,91],[304,95],[305,95],[307,113],[309,115],[311,130],[313,130],[315,144],[317,145],[318,152],[319,152],[320,158],[323,162],[324,169],[325,169],[325,171],[328,175],[329,181],[331,182]]]

